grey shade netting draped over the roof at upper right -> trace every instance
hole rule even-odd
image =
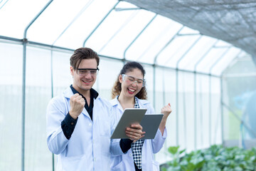
[[[125,0],[256,56],[255,0]]]

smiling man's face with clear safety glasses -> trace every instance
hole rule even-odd
[[[73,87],[82,94],[92,88],[97,78],[97,73],[93,73],[95,70],[86,70],[88,68],[97,69],[97,61],[95,58],[82,59],[76,71],[70,66],[70,73],[73,76]]]

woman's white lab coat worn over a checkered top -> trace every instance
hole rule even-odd
[[[153,114],[154,108],[151,106],[149,101],[138,99],[139,108],[146,108],[146,114]],[[124,110],[120,105],[117,98],[110,100],[118,119],[121,118]],[[142,171],[159,171],[159,162],[154,160],[154,154],[161,150],[164,145],[167,133],[164,129],[164,135],[161,135],[161,131],[157,130],[156,137],[153,140],[145,140],[142,147]],[[113,157],[112,171],[134,171],[134,161],[132,158],[132,149],[129,149],[126,154]]]

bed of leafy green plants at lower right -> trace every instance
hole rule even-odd
[[[186,153],[179,146],[169,147],[172,159],[162,171],[256,171],[256,150],[212,145],[208,149]]]

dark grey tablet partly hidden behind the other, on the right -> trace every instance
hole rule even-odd
[[[163,116],[163,114],[144,115],[140,125],[142,125],[142,131],[145,131],[146,133],[142,139],[154,139]]]

